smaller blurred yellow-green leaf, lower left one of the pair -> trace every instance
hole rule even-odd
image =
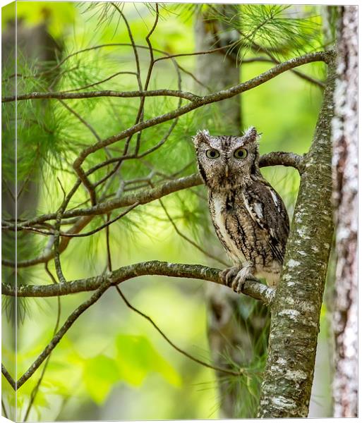
[[[92,400],[101,405],[106,400],[112,386],[121,379],[116,362],[106,355],[97,355],[85,360],[83,380]]]

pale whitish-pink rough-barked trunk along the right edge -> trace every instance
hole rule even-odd
[[[358,14],[340,8],[332,125],[336,281],[333,329],[334,417],[356,417],[358,404]]]

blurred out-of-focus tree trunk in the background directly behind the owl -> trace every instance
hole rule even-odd
[[[226,15],[235,12],[232,5],[216,7]],[[196,19],[195,39],[196,51],[226,46],[236,40],[234,33],[226,24],[207,18],[207,11],[200,13]],[[236,54],[232,51],[227,55],[226,53],[227,50],[196,56],[196,78],[212,91],[224,90],[240,83],[240,68]],[[200,92],[200,86],[197,89]],[[207,89],[204,92],[206,94]],[[223,130],[230,135],[239,135],[241,96],[219,102],[217,109]],[[269,321],[267,307],[252,298],[237,295],[229,288],[216,284],[207,283],[205,293],[208,308],[207,334],[214,364],[218,367],[227,367],[231,359],[239,366],[248,366],[255,357],[263,355],[266,345],[258,341],[263,331],[267,329],[265,327]],[[217,374],[217,377],[219,418],[253,417],[253,407],[246,401],[246,396],[250,396],[247,386],[227,381],[224,374]],[[243,404],[240,403],[241,397]]]

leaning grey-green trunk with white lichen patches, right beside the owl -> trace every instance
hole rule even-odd
[[[282,279],[272,305],[259,417],[307,417],[320,307],[332,243],[334,57],[313,144],[304,159]]]

